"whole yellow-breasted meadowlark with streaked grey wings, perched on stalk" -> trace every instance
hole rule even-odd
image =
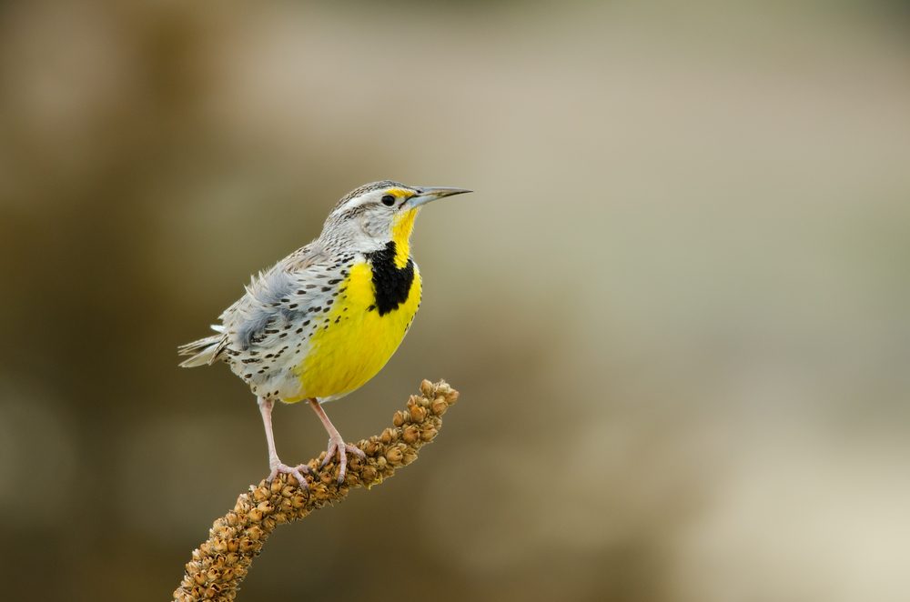
[[[395,353],[420,307],[420,271],[410,234],[420,207],[470,192],[389,180],[349,192],[319,238],[253,276],[246,294],[219,316],[218,334],[179,347],[184,367],[224,360],[258,398],[268,442],[268,480],[287,473],[306,486],[305,464],[278,459],[275,401],[307,400],[329,432],[323,467],[338,453],[363,456],[332,425],[321,404],[365,385]]]

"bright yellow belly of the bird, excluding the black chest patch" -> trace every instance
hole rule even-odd
[[[335,297],[328,327],[313,334],[308,354],[295,370],[300,396],[287,402],[343,396],[365,385],[398,349],[420,306],[417,266],[407,299],[383,316],[376,309],[369,264],[352,266],[340,288],[345,291]]]

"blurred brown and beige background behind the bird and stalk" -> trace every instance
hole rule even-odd
[[[278,529],[241,600],[905,600],[905,3],[0,8],[2,597],[167,599],[267,473],[176,347],[383,178],[420,317],[327,406],[419,462]],[[325,446],[276,410],[288,462]]]

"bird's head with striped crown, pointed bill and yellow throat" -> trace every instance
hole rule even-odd
[[[362,251],[395,244],[396,263],[410,255],[410,233],[420,207],[446,196],[470,192],[463,188],[405,186],[384,180],[360,186],[332,209],[322,231],[324,242],[352,242]],[[403,260],[400,258],[403,257]]]

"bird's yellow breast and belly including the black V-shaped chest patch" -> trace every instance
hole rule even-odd
[[[328,320],[295,369],[298,399],[343,396],[386,365],[420,307],[420,271],[410,258],[400,263],[389,245],[350,267]]]

